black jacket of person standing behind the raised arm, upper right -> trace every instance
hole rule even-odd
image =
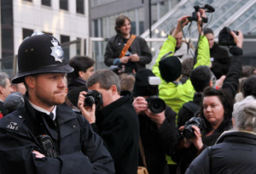
[[[219,77],[226,75],[230,69],[230,55],[225,48],[220,47],[216,42],[210,48],[210,55],[213,58],[211,70],[217,79],[219,79]]]

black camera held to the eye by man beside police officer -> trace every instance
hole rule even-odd
[[[101,106],[103,104],[102,93],[97,92],[96,90],[90,90],[84,95],[84,106]]]

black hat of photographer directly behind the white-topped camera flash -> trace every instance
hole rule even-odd
[[[154,76],[154,73],[148,69],[137,71],[132,91],[134,97],[151,95],[149,90],[148,76]]]

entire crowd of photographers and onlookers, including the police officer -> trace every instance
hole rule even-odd
[[[104,54],[114,71],[87,56],[67,62],[54,36],[26,38],[18,73],[0,73],[0,173],[254,171],[256,68],[241,65],[241,31],[228,53],[206,17],[199,9],[197,48],[183,42],[189,15],[179,18],[152,70],[125,15]]]

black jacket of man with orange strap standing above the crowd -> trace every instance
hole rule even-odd
[[[113,65],[113,60],[119,58],[119,54],[124,48],[125,40],[122,36],[117,34],[109,39],[104,54],[104,63],[108,66]],[[149,64],[152,60],[152,54],[148,48],[148,43],[140,36],[136,36],[135,40],[131,43],[129,48],[130,52],[137,53],[140,61],[136,63],[137,70],[146,68],[145,65]]]

